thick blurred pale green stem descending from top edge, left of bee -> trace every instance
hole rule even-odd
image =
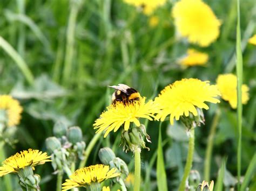
[[[63,81],[68,82],[71,76],[72,70],[72,60],[74,52],[74,39],[75,39],[75,29],[77,13],[79,10],[79,1],[71,0],[71,10],[69,14],[68,29],[66,32],[66,52],[65,52],[65,62],[63,71]]]

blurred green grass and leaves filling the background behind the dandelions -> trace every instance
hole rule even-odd
[[[29,74],[22,72],[17,62],[0,48],[0,94],[11,94],[24,108],[18,143],[6,146],[7,155],[28,148],[45,151],[44,141],[52,136],[53,124],[58,120],[80,126],[88,144],[95,135],[93,122],[111,101],[113,90],[109,85],[125,83],[141,95],[154,98],[167,84],[185,77],[210,80],[214,84],[219,74],[235,73],[236,1],[205,1],[222,23],[219,38],[207,48],[177,38],[171,17],[174,2],[167,1],[154,12],[159,23],[152,27],[150,17],[121,0],[1,0],[0,36],[24,59],[33,76],[33,83],[29,83],[25,78]],[[256,145],[256,47],[247,44],[248,38],[256,33],[255,25],[255,1],[241,1],[243,83],[250,87],[250,100],[243,105],[242,175]],[[205,67],[183,69],[177,64],[191,47],[208,53],[210,59]],[[192,169],[197,169],[203,180],[207,137],[217,107],[221,115],[214,138],[211,178],[216,179],[221,158],[226,158],[228,189],[235,184],[237,174],[237,114],[223,100],[205,111],[206,124],[196,129]],[[156,165],[150,171],[149,182],[145,181],[145,172],[156,156],[158,125],[150,122],[147,128],[152,143],[147,143],[149,152],[142,151],[142,189],[157,190]],[[162,129],[168,186],[176,190],[186,159],[186,132],[179,123],[170,126],[165,122]],[[118,136],[110,133],[108,138],[101,138],[87,165],[99,163],[99,148],[113,145],[117,156],[129,164],[133,155],[122,151],[119,142],[115,142]],[[130,167],[133,171],[133,164]],[[52,172],[51,164],[37,167],[42,190],[55,188],[56,177]],[[255,175],[253,180],[252,190],[256,188]]]

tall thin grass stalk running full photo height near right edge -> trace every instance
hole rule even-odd
[[[240,0],[237,0],[237,118],[238,118],[238,149],[237,149],[237,176],[238,190],[241,177],[241,147],[242,147],[242,50],[240,32]]]

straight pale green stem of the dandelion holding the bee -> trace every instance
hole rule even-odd
[[[134,187],[133,191],[140,191],[140,148],[134,150]]]

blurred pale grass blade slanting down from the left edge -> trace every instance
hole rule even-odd
[[[0,36],[0,47],[4,49],[4,51],[9,54],[9,56],[15,61],[19,69],[21,69],[23,75],[25,76],[26,80],[33,84],[34,77],[32,72],[30,71],[28,65],[23,60],[21,55],[17,53],[17,51],[5,40]]]

